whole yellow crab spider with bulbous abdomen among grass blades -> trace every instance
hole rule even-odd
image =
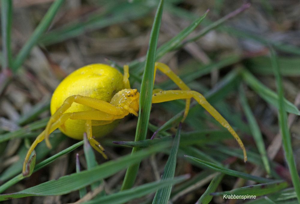
[[[165,64],[155,63],[155,72],[159,69],[166,74],[181,90],[153,90],[152,103],[161,103],[177,99],[185,99],[186,106],[182,121],[187,116],[190,99],[194,98],[238,142],[247,161],[246,150],[241,139],[229,123],[212,107],[203,95],[190,88]],[[23,175],[29,173],[28,160],[36,145],[45,140],[49,148],[49,134],[59,128],[65,135],[82,139],[86,132],[89,143],[104,158],[104,148],[95,137],[104,136],[118,124],[118,119],[129,113],[138,116],[140,93],[131,89],[129,84],[129,68],[124,66],[124,76],[115,68],[105,64],[91,64],[77,69],[68,75],[55,89],[51,99],[51,117],[46,129],[35,139],[25,158]]]

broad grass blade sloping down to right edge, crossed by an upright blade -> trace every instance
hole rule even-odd
[[[278,95],[275,92],[263,85],[249,71],[242,69],[241,75],[243,77],[243,80],[247,83],[247,85],[250,86],[251,89],[253,89],[262,99],[272,104],[273,106],[279,108]],[[283,99],[283,101],[286,106],[285,108],[287,112],[300,115],[300,111],[294,104],[287,101],[285,98]]]

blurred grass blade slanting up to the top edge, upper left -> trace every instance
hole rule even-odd
[[[38,27],[35,29],[29,40],[27,40],[25,45],[19,51],[19,54],[16,56],[16,59],[14,60],[12,65],[13,72],[16,72],[17,69],[23,64],[26,57],[29,55],[32,47],[37,44],[42,34],[46,31],[47,28],[49,28],[49,25],[51,24],[54,16],[56,15],[63,3],[64,0],[56,0],[52,3],[44,18],[39,23]]]

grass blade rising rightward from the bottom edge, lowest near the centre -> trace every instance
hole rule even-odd
[[[188,179],[189,176],[178,176],[173,179],[165,179],[161,181],[151,182],[147,184],[143,184],[137,186],[135,188],[131,188],[124,191],[119,191],[114,194],[110,194],[100,199],[94,199],[91,201],[86,202],[85,204],[98,204],[98,203],[105,203],[105,204],[121,204],[127,203],[130,200],[140,198],[142,196],[151,194],[152,192],[156,191],[159,188],[164,188],[169,185],[174,185],[176,183],[183,182],[184,180]]]

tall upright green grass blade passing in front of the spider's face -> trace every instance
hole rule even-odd
[[[152,90],[153,90],[153,78],[154,78],[154,65],[156,56],[156,47],[158,41],[158,34],[161,25],[161,18],[163,14],[164,0],[161,0],[156,15],[154,18],[154,23],[152,26],[150,34],[149,48],[146,55],[146,64],[143,74],[143,80],[141,84],[140,91],[140,110],[139,118],[137,121],[137,130],[135,134],[135,141],[140,141],[146,139],[148,123],[151,110],[152,101]],[[133,148],[132,153],[136,152],[138,148]],[[131,188],[134,185],[134,181],[137,177],[137,171],[139,169],[140,163],[130,166],[125,174],[125,178],[122,184],[122,190]]]

